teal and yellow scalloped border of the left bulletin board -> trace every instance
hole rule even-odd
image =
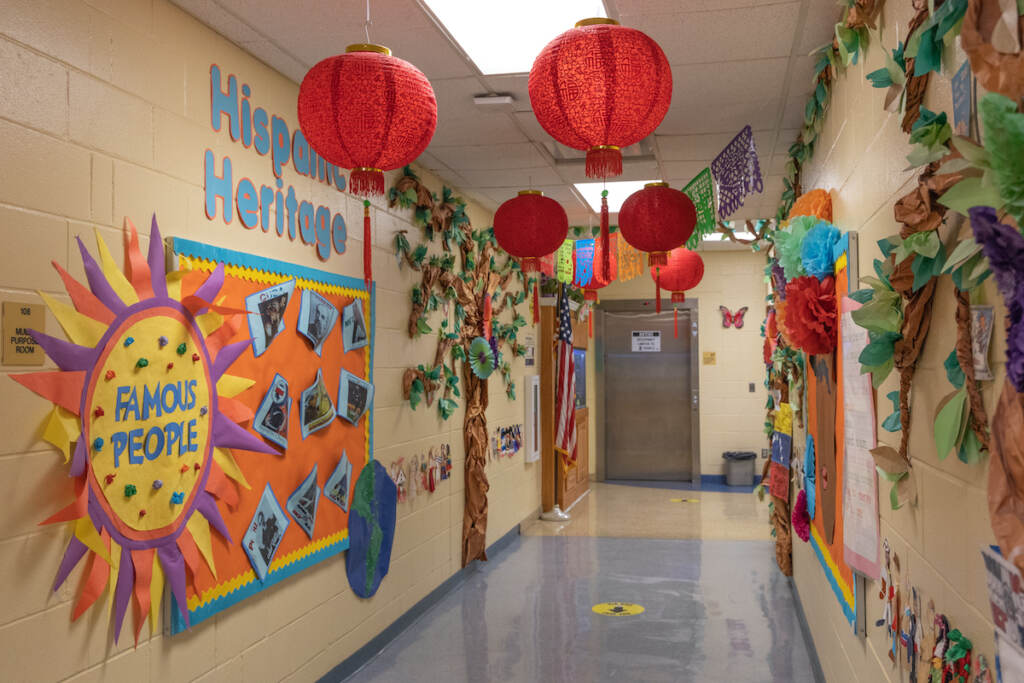
[[[370,333],[370,344],[368,345],[366,377],[367,381],[373,383],[374,347],[377,339],[376,284],[373,284],[371,290],[368,291],[364,281],[347,275],[326,272],[254,254],[245,254],[223,247],[205,245],[193,240],[173,238],[170,242],[171,250],[178,257],[179,270],[212,271],[218,263],[223,263],[225,274],[232,278],[264,285],[276,285],[294,278],[300,289],[350,296],[367,301],[370,317],[367,322],[367,329]],[[373,409],[367,412],[366,426],[367,462],[370,463],[374,458]],[[188,620],[191,626],[196,626],[231,605],[347,549],[348,529],[342,529],[312,541],[285,557],[274,559],[270,564],[266,579],[262,582],[256,581],[256,572],[250,569],[211,588],[202,596],[193,596],[187,605]],[[171,633],[181,633],[185,630],[184,617],[173,596],[171,597]]]

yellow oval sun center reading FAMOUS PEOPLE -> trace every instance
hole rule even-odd
[[[161,308],[126,322],[104,353],[82,416],[95,484],[124,525],[161,529],[189,507],[204,473],[207,358],[176,311]]]

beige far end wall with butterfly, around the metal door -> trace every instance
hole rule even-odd
[[[761,456],[764,388],[761,319],[765,310],[765,257],[749,250],[701,250],[705,276],[686,298],[697,302],[697,344],[700,357],[700,471],[703,475],[723,474],[725,451],[753,451]],[[668,293],[664,310],[671,310]],[[649,275],[612,283],[601,290],[603,300],[646,299],[653,305],[654,281]],[[718,307],[750,310],[743,328],[725,329]],[[683,330],[680,330],[683,334]],[[713,351],[715,365],[705,365],[702,353]],[[593,366],[588,366],[593,373]],[[754,383],[754,392],[750,384]],[[593,384],[591,378],[588,383]],[[600,397],[595,396],[595,400]],[[592,424],[592,431],[595,425]],[[760,474],[760,463],[758,473]]]

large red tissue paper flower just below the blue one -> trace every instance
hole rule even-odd
[[[785,286],[785,330],[794,346],[807,353],[836,348],[836,280],[804,275]]]

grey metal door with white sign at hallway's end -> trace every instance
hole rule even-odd
[[[693,477],[697,377],[691,314],[604,311],[606,479]]]

